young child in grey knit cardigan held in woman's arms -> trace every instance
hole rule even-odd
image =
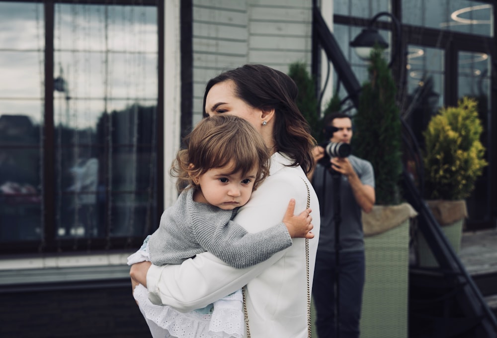
[[[128,264],[180,264],[208,251],[243,268],[290,247],[291,238],[314,237],[311,210],[294,216],[293,199],[283,222],[264,231],[248,233],[232,221],[269,172],[269,152],[248,121],[232,115],[205,118],[184,141],[170,172],[178,178],[178,190],[186,187]],[[133,294],[153,337],[243,337],[241,290],[189,313],[152,304],[142,285]]]

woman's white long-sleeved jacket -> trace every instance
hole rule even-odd
[[[248,232],[258,232],[280,222],[290,198],[295,198],[295,214],[307,205],[307,182],[311,193],[313,233],[309,240],[309,283],[312,287],[319,242],[319,202],[300,167],[286,167],[290,160],[280,153],[271,157],[270,174],[240,208],[234,221]],[[244,269],[236,269],[213,254],[197,254],[181,264],[155,266],[147,273],[149,299],[191,311],[247,285],[247,308],[253,338],[307,337],[307,277],[305,240],[269,259]]]

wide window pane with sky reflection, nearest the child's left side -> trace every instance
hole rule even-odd
[[[57,235],[155,225],[157,10],[55,5]]]

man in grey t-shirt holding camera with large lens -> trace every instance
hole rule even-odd
[[[374,172],[368,161],[348,156],[348,115],[330,114],[324,126],[330,142],[314,149],[317,165],[309,174],[321,209],[312,289],[316,327],[319,338],[358,338],[365,266],[361,211],[373,208]]]

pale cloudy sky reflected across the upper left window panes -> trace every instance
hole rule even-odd
[[[42,120],[43,20],[42,4],[0,2],[0,115]],[[71,97],[54,93],[56,123],[94,127],[105,108],[156,104],[155,7],[56,4],[54,27],[54,78]]]

